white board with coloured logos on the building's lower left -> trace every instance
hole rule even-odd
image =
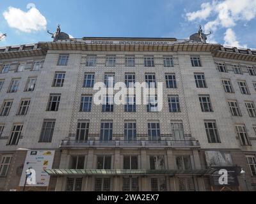
[[[35,170],[35,184],[26,184],[26,186],[44,187],[49,186],[50,176],[44,171],[52,168],[54,159],[53,150],[29,150],[24,163],[24,168],[20,178],[19,186],[24,186],[26,180],[26,170]]]

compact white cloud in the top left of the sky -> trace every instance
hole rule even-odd
[[[4,11],[3,16],[10,27],[19,29],[19,31],[31,33],[31,31],[45,30],[47,20],[36,9],[35,4],[29,3],[27,9],[28,11],[22,11],[10,6]]]

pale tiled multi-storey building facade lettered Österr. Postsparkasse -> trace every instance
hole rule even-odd
[[[0,67],[1,191],[22,190],[27,152],[40,150],[55,151],[51,178],[31,191],[255,191],[255,50],[66,39],[0,48]],[[138,104],[134,91],[97,105],[98,82],[146,82],[158,103]],[[237,178],[227,188],[212,181],[226,167]]]

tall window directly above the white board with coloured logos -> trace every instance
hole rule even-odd
[[[44,120],[42,132],[38,142],[51,143],[55,127],[55,120]]]

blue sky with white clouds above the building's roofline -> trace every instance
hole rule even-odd
[[[29,4],[29,5],[28,5]],[[26,13],[25,13],[26,12]],[[51,41],[47,29],[84,36],[186,39],[203,25],[210,42],[256,48],[256,0],[0,1],[0,46]]]

